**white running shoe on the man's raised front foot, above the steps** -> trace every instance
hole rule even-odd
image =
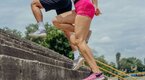
[[[45,32],[45,29],[44,30],[37,30],[34,33],[30,33],[29,36],[34,37],[34,38],[46,37],[46,32]]]

